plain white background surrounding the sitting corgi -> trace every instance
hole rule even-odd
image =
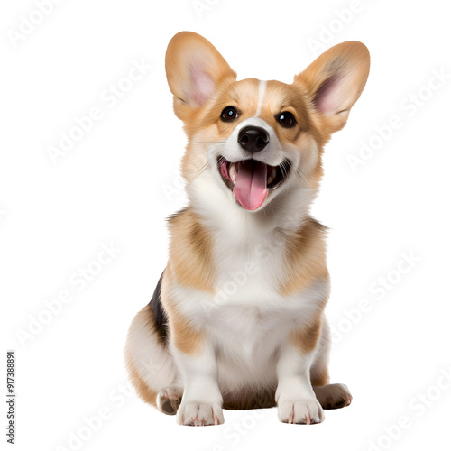
[[[355,3],[208,1],[199,13],[190,0],[65,0],[19,41],[21,16],[29,18],[36,5],[2,5],[0,290],[3,347],[16,352],[16,449],[75,449],[69,437],[79,433],[83,450],[445,446],[449,11],[432,0],[418,6],[362,0],[352,17],[337,19]],[[126,382],[127,328],[165,266],[165,218],[185,202],[178,179],[185,137],[164,74],[166,45],[181,30],[206,36],[239,78],[290,82],[320,53],[309,40],[322,40],[324,49],[363,41],[371,52],[364,94],[345,130],[327,144],[312,211],[330,227],[332,380],[347,383],[354,395],[351,407],[327,411],[321,425],[283,425],[272,409],[227,410],[224,426],[183,428],[129,389],[118,394]],[[133,60],[152,69],[127,84],[122,79]],[[448,76],[441,86],[432,80],[431,90],[434,70]],[[105,90],[118,83],[130,89],[113,105]],[[422,105],[412,106],[418,95]],[[49,146],[96,106],[101,119],[54,163]],[[393,115],[401,125],[387,132]],[[375,126],[385,127],[387,140],[374,138]],[[358,157],[370,142],[378,149],[353,170],[350,155]],[[78,269],[98,269],[92,262],[110,243],[120,251],[79,290]],[[401,263],[400,273],[403,253],[416,261]],[[389,277],[387,288],[380,277]],[[63,290],[73,299],[49,320],[44,301]],[[363,301],[367,310],[359,313]],[[21,342],[18,331],[39,315],[48,324]],[[5,374],[5,356],[1,361]],[[99,410],[107,418],[87,429],[84,418]],[[393,426],[400,417],[407,423],[402,430]]]

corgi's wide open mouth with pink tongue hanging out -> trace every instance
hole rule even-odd
[[[231,162],[219,157],[217,166],[237,202],[246,210],[256,210],[269,192],[279,188],[287,179],[291,163],[285,160],[279,166],[270,166],[253,159]]]

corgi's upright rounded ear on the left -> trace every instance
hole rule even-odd
[[[205,38],[195,32],[179,32],[166,51],[166,77],[180,119],[203,106],[220,83],[236,79],[226,60]]]

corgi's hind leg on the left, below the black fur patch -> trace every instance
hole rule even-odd
[[[163,413],[173,415],[182,391],[176,366],[155,327],[149,306],[133,318],[125,345],[125,362],[138,395]]]

